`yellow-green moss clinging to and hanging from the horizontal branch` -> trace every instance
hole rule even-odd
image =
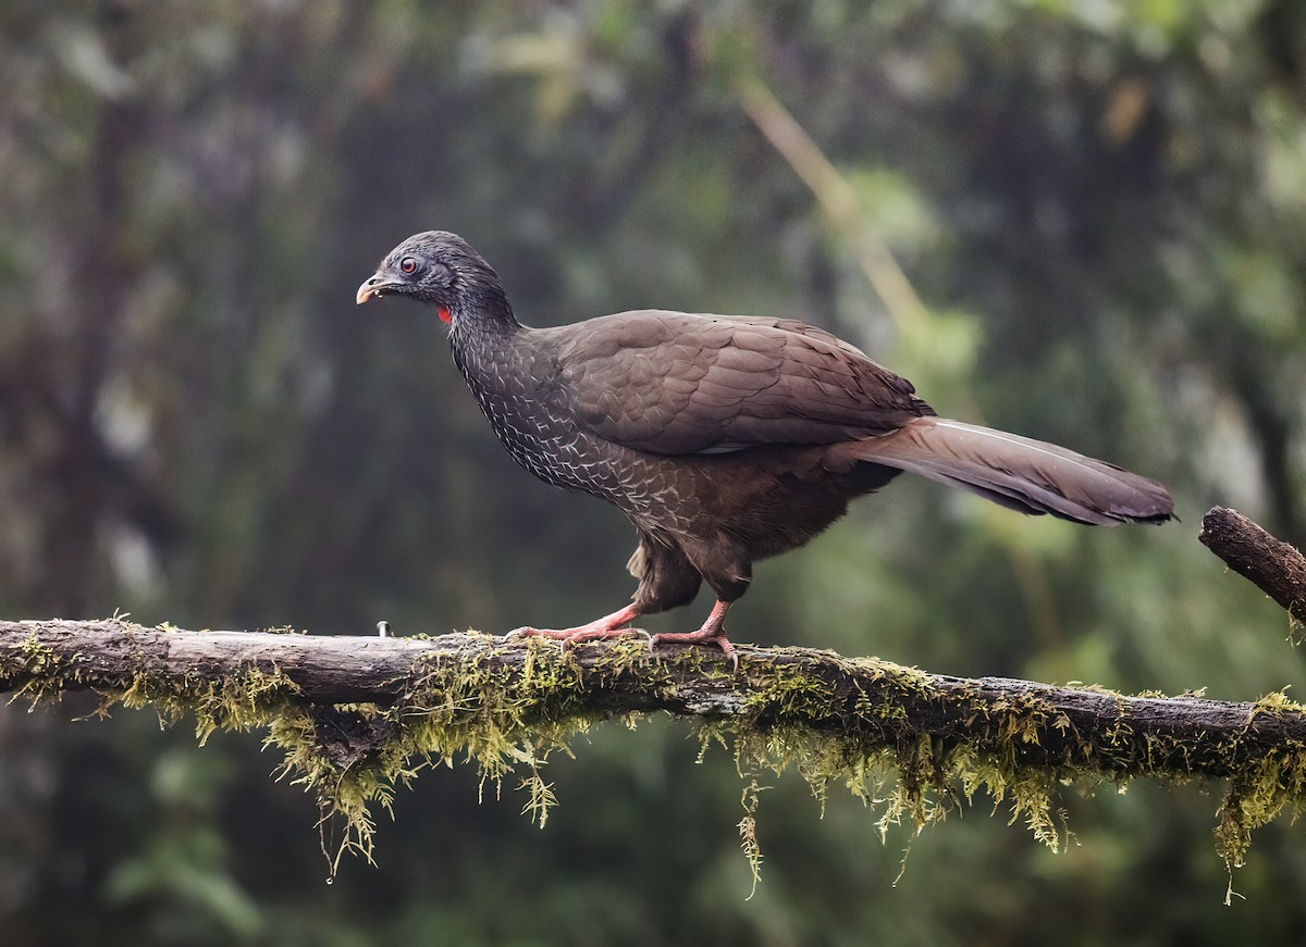
[[[316,796],[321,806],[324,850],[333,866],[343,852],[371,858],[374,817],[389,810],[394,793],[427,764],[471,764],[482,790],[502,792],[505,780],[524,792],[524,811],[545,824],[554,794],[543,767],[569,740],[613,716],[633,724],[639,715],[603,710],[603,694],[644,695],[649,703],[677,693],[695,676],[729,673],[701,650],[653,659],[643,642],[602,647],[582,667],[555,643],[528,639],[524,664],[496,661],[508,646],[483,638],[474,656],[435,655],[413,668],[407,689],[389,706],[311,704],[298,686],[273,668],[246,667],[222,681],[189,674],[182,680],[140,673],[102,689],[103,707],[150,706],[161,724],[192,715],[202,742],[213,730],[265,728],[266,745],[285,754],[281,775]],[[517,654],[522,644],[512,646]],[[946,691],[930,676],[887,661],[840,659],[853,676],[831,686],[827,678],[791,660],[801,652],[744,656],[739,674],[748,681],[737,712],[697,719],[700,753],[713,745],[734,754],[742,776],[739,834],[756,874],[764,780],[795,770],[824,804],[842,787],[878,811],[878,826],[916,827],[947,817],[977,796],[1006,809],[1057,849],[1064,818],[1057,807],[1066,785],[1114,780],[1123,790],[1136,775],[1171,781],[1192,779],[1191,760],[1209,760],[1212,746],[1185,745],[1174,737],[1139,741],[1127,723],[1126,698],[1114,725],[1079,734],[1067,716],[1034,694],[991,697],[978,682],[955,682]],[[81,674],[76,659],[60,659],[37,634],[0,667],[0,677],[21,682],[31,699],[57,697]],[[925,732],[906,706],[953,711],[961,727]],[[1256,703],[1252,716],[1301,712],[1284,694]],[[1057,747],[1049,760],[1047,747]],[[1216,751],[1228,781],[1216,827],[1216,849],[1232,867],[1241,865],[1251,832],[1285,810],[1296,818],[1306,798],[1306,746],[1288,741],[1269,753],[1249,753],[1239,738]],[[1105,776],[1104,776],[1105,774]],[[338,836],[338,837],[337,837]]]

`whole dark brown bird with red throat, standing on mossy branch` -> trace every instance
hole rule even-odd
[[[703,626],[652,643],[714,643],[737,661],[722,622],[752,564],[803,545],[901,471],[1076,523],[1173,513],[1153,480],[936,417],[909,381],[797,320],[643,309],[528,329],[494,269],[441,231],[390,250],[358,303],[392,293],[436,307],[454,364],[517,463],[614,504],[639,531],[629,605],[522,634],[629,634],[631,621],[690,603],[707,580],[717,604]]]

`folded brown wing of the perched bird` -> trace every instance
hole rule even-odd
[[[556,331],[576,420],[654,454],[833,443],[934,413],[909,381],[795,320],[645,310]]]

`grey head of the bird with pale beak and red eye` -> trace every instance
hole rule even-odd
[[[359,305],[374,296],[410,296],[436,307],[440,320],[503,318],[512,310],[494,267],[457,233],[414,233],[390,250],[358,287]]]

